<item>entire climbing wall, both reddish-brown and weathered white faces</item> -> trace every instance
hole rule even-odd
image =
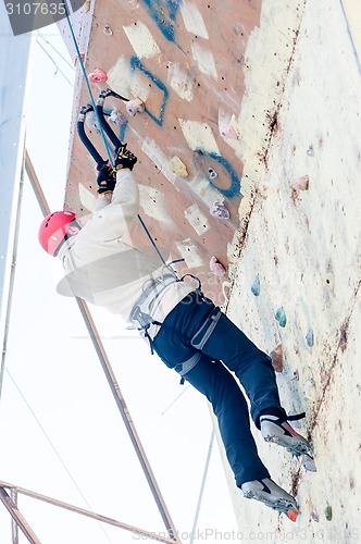
[[[127,116],[117,131],[139,158],[147,226],[260,347],[283,346],[282,401],[307,413],[300,430],[313,440],[316,473],[252,428],[274,480],[299,500],[297,524],[245,500],[225,460],[241,537],[359,542],[357,2],[109,1],[83,17],[86,71],[108,77],[94,94],[111,87],[146,104],[136,116],[107,107]],[[78,73],[74,122],[88,101]],[[65,207],[84,220],[95,178],[73,134]],[[149,244],[139,224],[129,238]],[[225,275],[212,272],[212,257]]]

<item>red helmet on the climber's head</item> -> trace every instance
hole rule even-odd
[[[57,256],[61,243],[67,234],[69,224],[75,219],[72,211],[54,211],[49,213],[39,228],[39,242],[42,248]]]

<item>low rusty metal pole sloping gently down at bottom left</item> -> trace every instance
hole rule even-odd
[[[38,500],[42,500],[43,503],[48,503],[53,506],[58,506],[60,508],[64,508],[66,510],[73,511],[75,514],[80,514],[82,516],[87,516],[88,518],[96,519],[98,521],[102,521],[103,523],[109,523],[110,526],[119,527],[120,529],[124,529],[125,531],[132,531],[134,535],[140,535],[145,539],[150,539],[158,542],[163,542],[164,544],[174,544],[174,540],[166,539],[160,534],[151,533],[150,531],[145,531],[144,529],[139,529],[134,526],[129,526],[127,523],[123,523],[122,521],[116,521],[115,519],[108,518],[107,516],[102,516],[101,514],[96,514],[90,510],[86,510],[85,508],[79,508],[77,506],[73,506],[69,503],[63,503],[62,500],[58,500],[57,498],[48,497],[47,495],[41,495],[40,493],[36,493],[35,491],[26,490],[24,487],[18,487],[13,484],[1,482],[0,481],[0,490],[3,487],[8,487],[11,491],[15,491],[16,493],[21,493],[22,495],[26,495],[32,498],[36,498]],[[7,492],[4,492],[7,493]],[[9,497],[9,495],[7,494]],[[10,499],[10,497],[9,497]],[[39,541],[35,541],[38,543]]]

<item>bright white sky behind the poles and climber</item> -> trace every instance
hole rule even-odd
[[[67,54],[54,28],[40,32],[61,54]],[[38,39],[72,78],[73,70]],[[73,89],[37,44],[32,62],[27,149],[50,208],[62,209]],[[96,512],[164,532],[77,305],[55,293],[61,268],[38,245],[41,219],[26,181],[7,357],[10,374],[5,371],[0,403],[0,479],[88,508],[77,485]],[[129,335],[121,320],[101,310],[94,316],[102,337],[111,337],[104,345],[121,391],[173,521],[187,543],[212,431],[206,399],[191,388],[185,391],[177,374],[151,357],[136,333]],[[18,507],[45,544],[137,542],[110,526],[103,526],[105,536],[97,521],[23,496]],[[208,542],[229,541],[228,533],[237,531],[216,445],[198,528],[195,542],[204,541],[207,530]],[[8,542],[10,516],[0,503],[0,543]],[[20,542],[27,542],[22,534]]]

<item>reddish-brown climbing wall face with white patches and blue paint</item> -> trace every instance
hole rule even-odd
[[[260,9],[261,0],[114,0],[96,2],[83,13],[86,27],[91,21],[90,46],[82,51],[86,72],[101,69],[108,76],[105,83],[90,83],[94,96],[110,87],[146,104],[135,116],[122,101],[109,98],[104,106],[127,119],[125,126],[113,128],[138,157],[141,218],[160,247],[185,259],[180,272],[191,269],[219,302],[224,300],[228,245],[240,228],[245,52]],[[79,106],[88,102],[78,70],[74,122]],[[97,131],[88,134],[104,150]],[[73,136],[65,207],[86,219],[96,198],[95,163]],[[139,223],[130,239],[149,244]]]

